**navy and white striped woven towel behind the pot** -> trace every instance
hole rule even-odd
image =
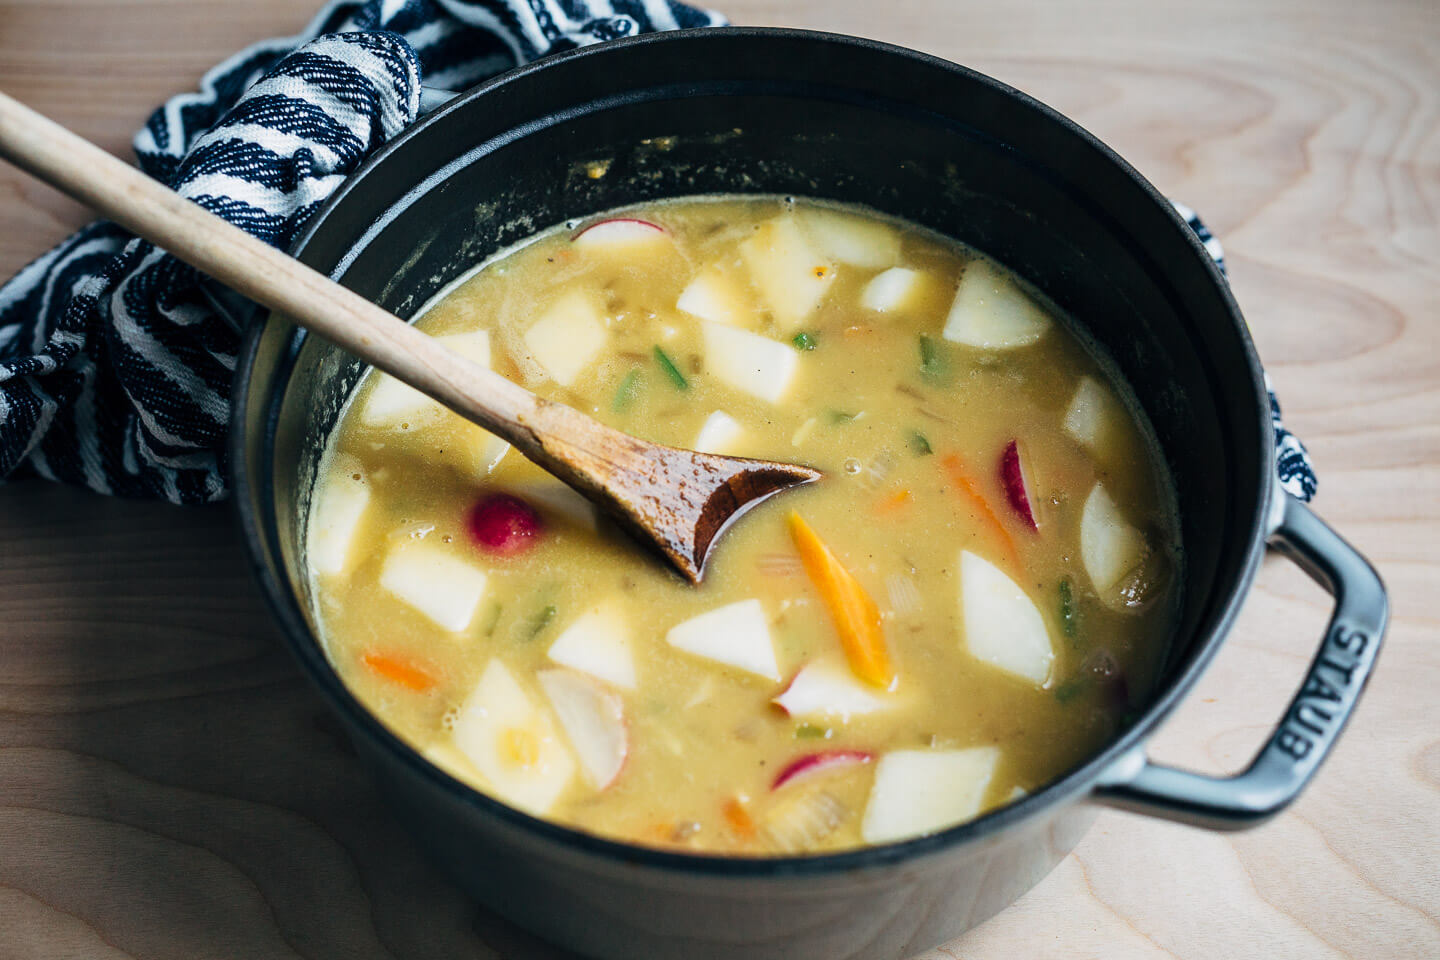
[[[723,23],[671,0],[334,0],[294,37],[220,63],[157,109],[141,168],[285,248],[374,150],[420,112],[420,82],[464,89],[557,50]],[[1218,243],[1181,209],[1221,266]],[[212,284],[112,223],[94,223],[0,288],[0,479],[37,474],[102,494],[222,499],[240,331]],[[1272,397],[1277,471],[1315,492]]]

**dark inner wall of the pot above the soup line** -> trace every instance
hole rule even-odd
[[[534,230],[707,193],[827,197],[913,220],[1015,269],[1104,347],[1153,426],[1179,507],[1184,596],[1162,712],[1253,563],[1270,442],[1257,366],[1223,281],[1165,201],[1014,91],[814,35],[720,30],[585,50],[413,130],[341,190],[298,255],[409,318]],[[300,563],[310,486],[363,366],[274,318],[252,348],[236,449],[294,633],[314,626]]]

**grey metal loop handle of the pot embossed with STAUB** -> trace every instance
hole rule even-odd
[[[1335,613],[1270,740],[1243,773],[1231,777],[1151,763],[1142,744],[1106,770],[1096,802],[1194,826],[1238,830],[1283,810],[1335,746],[1375,666],[1388,616],[1385,584],[1299,499],[1282,494],[1280,514],[1270,545],[1335,597]]]

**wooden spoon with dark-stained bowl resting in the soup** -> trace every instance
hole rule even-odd
[[[700,583],[710,547],[736,517],[821,478],[808,466],[648,443],[537,397],[4,94],[0,155],[498,433],[660,550],[691,583]]]

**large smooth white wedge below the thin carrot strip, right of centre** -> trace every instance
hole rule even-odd
[[[960,551],[959,570],[960,620],[971,656],[1043,687],[1056,652],[1034,600],[968,550]]]

